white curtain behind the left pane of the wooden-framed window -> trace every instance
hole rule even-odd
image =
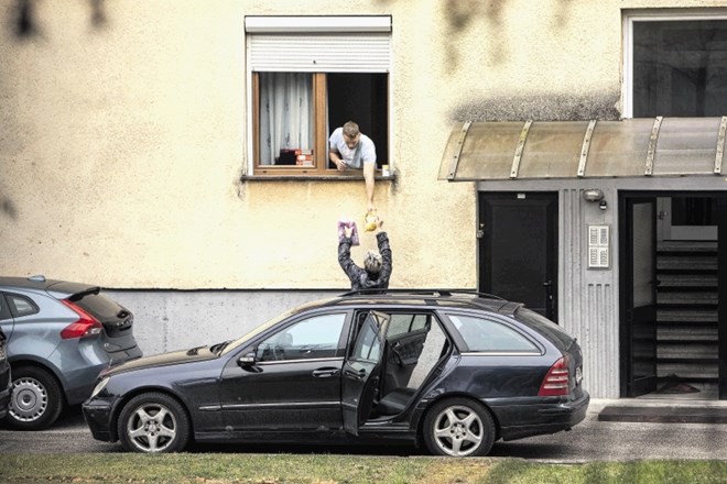
[[[313,147],[313,75],[260,73],[260,164]]]

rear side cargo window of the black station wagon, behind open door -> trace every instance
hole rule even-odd
[[[540,349],[524,334],[489,318],[448,315],[471,352],[536,353]]]

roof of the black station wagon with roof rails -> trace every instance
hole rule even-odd
[[[490,294],[457,289],[364,289],[318,301],[321,306],[438,307],[489,310],[512,315],[522,306]]]

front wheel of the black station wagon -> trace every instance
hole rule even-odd
[[[178,452],[189,440],[189,418],[182,404],[162,393],[147,393],[123,406],[119,439],[131,452]]]

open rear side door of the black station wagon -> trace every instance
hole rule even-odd
[[[373,405],[381,378],[389,315],[371,311],[358,331],[354,349],[344,363],[341,408],[344,428],[358,436]]]

